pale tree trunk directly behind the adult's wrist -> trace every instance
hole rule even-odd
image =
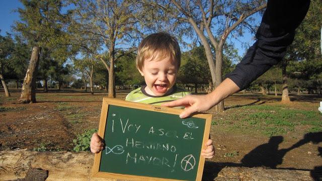
[[[216,48],[216,67],[215,67],[215,74],[216,74],[216,83],[215,87],[217,87],[222,81],[222,46],[218,46]],[[217,112],[224,111],[224,103],[221,101],[219,104],[216,105],[215,109]]]

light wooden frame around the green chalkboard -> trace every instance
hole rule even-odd
[[[140,109],[140,110],[147,110],[147,111],[154,111],[154,112],[164,112],[164,113],[168,113],[168,114],[178,115],[178,117],[179,117],[179,114],[183,112],[183,110],[181,110],[181,109],[167,108],[167,107],[160,107],[160,106],[149,105],[149,104],[134,103],[134,102],[129,102],[129,101],[103,98],[101,119],[100,119],[100,124],[99,124],[99,131],[98,131],[98,135],[102,138],[104,138],[104,136],[105,136],[104,134],[105,134],[105,127],[106,127],[106,122],[107,122],[109,105],[134,108],[134,109]],[[206,148],[205,143],[209,139],[209,132],[210,132],[212,115],[211,114],[197,114],[192,117],[202,118],[202,119],[206,120],[205,130],[204,130],[204,135],[203,135],[203,142],[202,142],[202,149],[205,149]],[[159,177],[129,175],[129,174],[120,174],[120,173],[100,172],[99,169],[100,169],[101,156],[102,156],[102,151],[100,151],[99,153],[96,153],[95,157],[94,157],[93,176],[95,176],[95,177],[120,178],[120,179],[126,179],[126,180],[134,180],[134,181],[139,181],[139,180],[178,180],[178,179],[169,179],[169,178],[159,178]],[[202,178],[204,163],[205,163],[205,158],[200,155],[196,180],[201,180],[201,178]]]

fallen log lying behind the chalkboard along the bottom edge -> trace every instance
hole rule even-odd
[[[0,152],[0,180],[28,180],[32,174],[50,180],[117,180],[92,177],[94,154],[89,152],[48,151],[25,149]],[[38,169],[35,169],[38,168]],[[263,167],[224,167],[214,171],[205,165],[204,180],[313,180],[309,171],[268,169]],[[44,171],[41,171],[44,170]],[[28,172],[29,171],[29,172]],[[38,173],[39,172],[39,173]],[[28,174],[27,174],[28,173]],[[212,177],[211,177],[212,175]],[[41,180],[39,178],[39,180]]]

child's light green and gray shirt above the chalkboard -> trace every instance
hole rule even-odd
[[[134,91],[130,92],[126,96],[125,101],[160,106],[163,103],[175,101],[185,97],[186,95],[190,95],[190,93],[187,92],[185,89],[174,86],[172,91],[170,93],[165,94],[164,96],[151,96],[145,92],[144,90],[145,86],[146,85],[139,87]],[[184,109],[185,107],[176,107],[176,108]]]

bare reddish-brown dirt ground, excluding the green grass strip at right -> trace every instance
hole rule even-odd
[[[124,100],[128,92],[117,92]],[[85,129],[98,128],[103,97],[80,91],[37,93],[37,103],[16,104],[20,92],[4,97],[0,91],[0,151],[16,148],[30,150],[72,150],[72,140]],[[301,110],[316,111],[319,96],[291,95],[288,105]],[[215,113],[213,120],[233,114],[234,106],[281,104],[279,97],[259,94],[235,94],[225,101],[226,110]],[[78,117],[77,117],[78,115]],[[316,118],[322,121],[322,117]],[[214,172],[231,166],[266,166],[278,169],[322,170],[322,132],[287,132],[268,136],[259,133],[231,132],[212,125],[215,156],[206,162],[205,171]]]

